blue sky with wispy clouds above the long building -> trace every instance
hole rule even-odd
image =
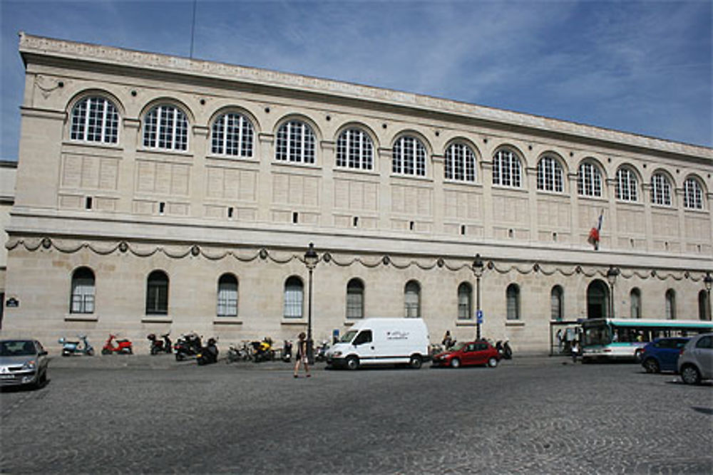
[[[713,1],[208,1],[195,58],[713,146]],[[0,158],[17,33],[188,56],[193,1],[0,0]]]

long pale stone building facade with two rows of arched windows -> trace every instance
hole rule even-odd
[[[553,321],[709,318],[707,147],[24,33],[19,51],[5,335],[281,340],[309,295],[315,340],[415,315],[473,338],[481,308],[484,337],[544,351]]]

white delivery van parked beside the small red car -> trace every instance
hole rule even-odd
[[[408,364],[418,369],[429,357],[429,329],[421,318],[365,318],[327,350],[328,366]]]

